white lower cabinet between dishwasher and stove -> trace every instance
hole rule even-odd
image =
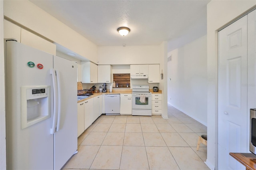
[[[132,94],[120,94],[120,115],[132,115]]]

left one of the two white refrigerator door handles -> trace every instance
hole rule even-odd
[[[56,119],[57,119],[57,112],[58,112],[58,97],[57,97],[57,81],[56,81],[56,71],[54,69],[50,69],[50,74],[52,75],[52,84],[53,84],[53,121],[52,121],[52,128],[50,133],[54,134],[56,132]]]

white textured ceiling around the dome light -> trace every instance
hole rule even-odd
[[[206,35],[210,0],[30,0],[96,45],[159,45]],[[130,28],[120,36],[119,27]]]

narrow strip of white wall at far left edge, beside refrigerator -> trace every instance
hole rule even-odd
[[[5,140],[5,87],[4,87],[4,14],[0,1],[0,169],[6,169]]]

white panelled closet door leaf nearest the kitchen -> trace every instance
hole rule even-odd
[[[218,169],[245,169],[230,152],[247,152],[247,16],[219,32]]]

